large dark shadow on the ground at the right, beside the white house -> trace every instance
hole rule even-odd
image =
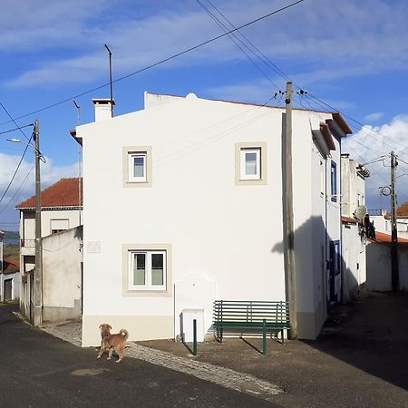
[[[408,390],[408,294],[364,293],[337,306],[318,339],[305,343]]]

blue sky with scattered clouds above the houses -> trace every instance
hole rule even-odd
[[[217,15],[208,0],[200,1]],[[210,1],[236,25],[290,3]],[[343,151],[368,161],[394,149],[408,162],[406,21],[408,9],[403,0],[305,0],[242,33],[295,83],[368,126],[361,131],[350,121],[355,135],[345,141]],[[3,0],[0,102],[19,117],[106,83],[105,43],[112,48],[113,77],[118,78],[221,33],[196,0]],[[253,58],[257,67],[230,38],[220,39],[116,83],[115,114],[141,109],[144,91],[196,92],[204,98],[267,102],[277,91],[273,83],[283,90],[286,81]],[[78,98],[81,121],[93,121],[92,98],[108,96],[109,88],[104,88]],[[301,102],[306,106],[312,102],[318,108],[311,100]],[[77,146],[68,133],[75,127],[73,103],[25,117],[18,124],[30,123],[35,116],[41,123],[42,151],[47,158],[44,186],[75,176]],[[0,123],[8,120],[0,109]],[[13,123],[1,124],[0,131],[14,127]],[[2,194],[24,148],[5,141],[6,137],[22,135],[0,135]],[[15,183],[0,203],[0,228],[15,227],[5,224],[17,219],[15,203],[33,193],[33,172],[24,184],[33,156],[27,154]],[[371,170],[368,203],[378,208],[377,187],[388,182],[389,168],[378,162]],[[408,165],[401,163],[400,174],[405,171],[408,173]],[[408,199],[407,181],[408,177],[398,179],[400,203]],[[386,199],[381,204],[386,206]]]

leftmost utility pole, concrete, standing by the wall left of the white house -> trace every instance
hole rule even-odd
[[[43,239],[41,237],[40,123],[34,121],[35,141],[35,271],[34,325],[43,324]]]

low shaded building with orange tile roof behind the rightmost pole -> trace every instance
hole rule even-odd
[[[398,238],[399,290],[408,291],[408,239]],[[393,290],[391,274],[391,235],[375,232],[375,240],[367,243],[368,290]]]

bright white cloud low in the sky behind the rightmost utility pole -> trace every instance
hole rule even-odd
[[[400,158],[397,167],[397,175],[402,175],[396,180],[398,204],[403,204],[408,200],[408,115],[399,115],[393,118],[390,123],[381,126],[364,126],[355,135],[347,138],[343,143],[343,152],[349,152],[355,160],[362,163],[370,162],[384,156],[384,160],[367,165],[371,172],[371,177],[366,180],[366,194],[369,207],[380,205],[379,186],[390,184],[390,156],[394,151]],[[383,207],[389,207],[389,199],[383,197]]]

